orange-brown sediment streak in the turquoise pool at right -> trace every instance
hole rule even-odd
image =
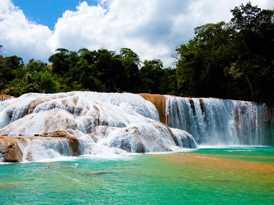
[[[222,159],[194,153],[172,153],[157,157],[167,159],[170,163],[274,174],[274,163]]]

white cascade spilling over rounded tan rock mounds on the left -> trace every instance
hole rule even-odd
[[[29,93],[1,103],[0,136],[33,136],[12,138],[13,144],[6,137],[0,148],[5,152],[5,147],[16,144],[23,161],[54,158],[57,153],[73,155],[67,138],[77,139],[77,154],[163,152],[197,146],[188,133],[160,123],[155,106],[138,94]]]

